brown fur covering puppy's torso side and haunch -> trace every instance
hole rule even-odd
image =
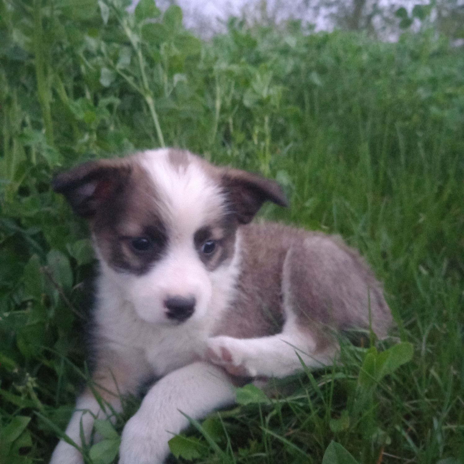
[[[237,298],[215,335],[253,338],[282,330],[283,300],[296,323],[316,340],[330,330],[368,328],[385,336],[392,317],[379,282],[359,255],[323,233],[277,224],[239,227],[242,266]],[[369,308],[370,293],[370,308]]]

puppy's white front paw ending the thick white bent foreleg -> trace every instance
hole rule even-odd
[[[122,431],[119,464],[162,464],[169,454],[165,435],[157,436],[150,421],[135,414]]]

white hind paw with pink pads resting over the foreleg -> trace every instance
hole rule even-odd
[[[219,336],[209,338],[206,342],[206,357],[209,361],[222,366],[229,374],[240,377],[255,377],[258,372],[247,359],[243,340]]]

